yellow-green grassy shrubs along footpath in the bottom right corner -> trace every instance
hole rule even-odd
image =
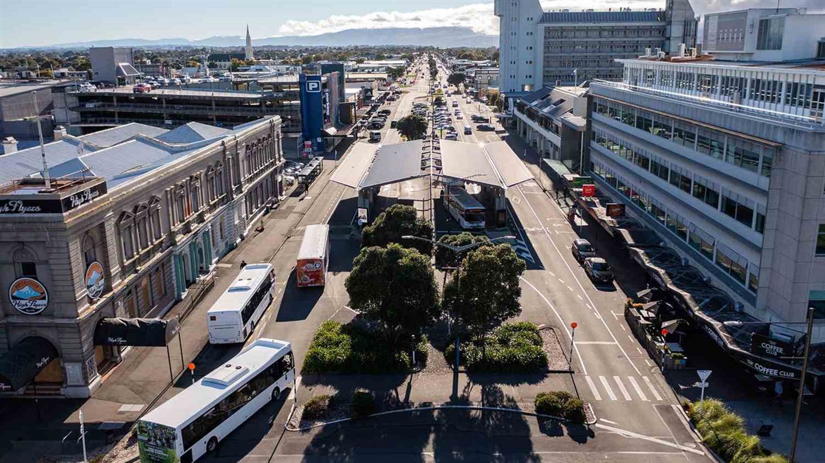
[[[711,450],[730,463],[787,463],[785,456],[771,453],[761,446],[758,436],[747,433],[745,421],[718,399],[705,399],[688,406],[687,414]]]

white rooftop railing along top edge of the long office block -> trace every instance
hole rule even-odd
[[[677,93],[675,91],[664,91],[649,87],[639,87],[637,85],[630,85],[624,82],[610,82],[595,79],[593,84],[596,86],[615,88],[620,91],[634,91],[637,93],[648,93],[660,98],[667,98],[668,100],[680,100],[686,102],[687,105],[694,106],[699,109],[706,109],[711,106],[718,110],[724,110],[737,115],[748,115],[756,117],[761,120],[771,120],[780,124],[790,125],[799,129],[821,129],[823,128],[823,119],[813,118],[803,115],[792,115],[790,113],[783,113],[774,110],[765,110],[754,106],[739,105],[730,103],[728,101],[714,100],[705,96],[686,95],[684,93]]]

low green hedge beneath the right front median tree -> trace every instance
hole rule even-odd
[[[534,373],[547,370],[547,353],[541,334],[528,321],[501,325],[485,339],[486,352],[474,342],[461,344],[461,364],[468,372]],[[455,341],[444,351],[450,364],[455,362]]]

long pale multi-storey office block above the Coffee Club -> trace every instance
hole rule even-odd
[[[759,40],[783,35],[782,21],[774,21],[825,23],[825,15],[799,20],[799,12],[773,8],[739,13],[720,14],[717,27],[726,16],[736,18],[732,29],[745,24],[744,37],[727,29],[724,36],[754,55]],[[794,34],[775,54],[818,53],[821,30]],[[596,184],[724,290],[741,317],[798,321],[816,306],[825,318],[823,62],[672,56],[620,63],[622,82],[591,84]],[[799,341],[799,331],[784,332]],[[813,338],[825,341],[825,328],[815,327]]]

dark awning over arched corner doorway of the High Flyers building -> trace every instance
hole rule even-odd
[[[17,391],[27,386],[55,358],[57,349],[49,341],[38,337],[23,339],[0,357],[0,391]]]

